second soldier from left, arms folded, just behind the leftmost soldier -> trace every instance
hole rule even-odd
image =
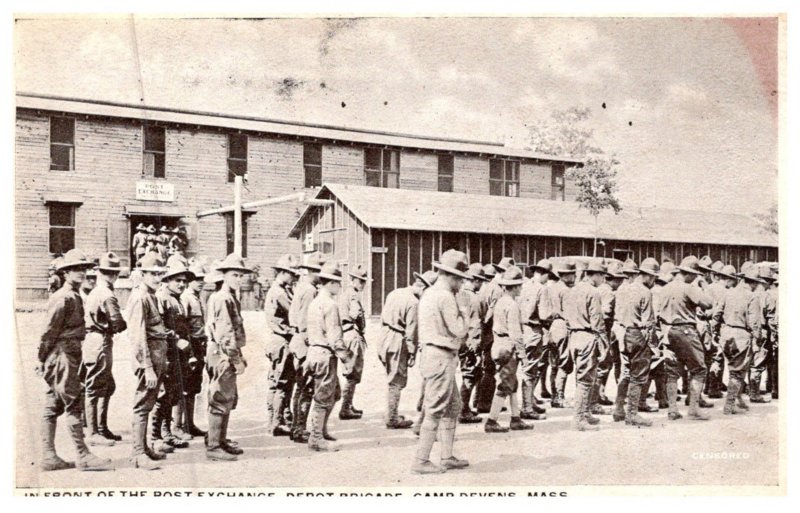
[[[97,266],[99,280],[84,303],[86,339],[83,342],[83,372],[89,445],[113,445],[122,440],[108,429],[108,403],[116,390],[112,367],[114,335],[127,327],[120,312],[114,282],[121,271],[119,257],[106,253]]]

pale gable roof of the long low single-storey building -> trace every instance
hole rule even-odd
[[[593,238],[594,219],[573,201],[507,198],[477,194],[383,189],[326,184],[318,199],[339,199],[370,228]],[[297,237],[309,206],[290,232]],[[603,212],[599,236],[608,240],[684,242],[777,247],[758,222],[727,212],[642,208],[617,215]]]

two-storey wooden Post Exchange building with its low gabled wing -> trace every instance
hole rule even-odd
[[[72,247],[131,261],[139,223],[185,225],[188,256],[233,249],[233,203],[306,191],[245,210],[243,253],[269,275],[282,253],[363,262],[365,305],[430,268],[443,248],[472,261],[530,263],[591,254],[594,221],[573,201],[579,161],[501,144],[290,123],[161,107],[17,95],[17,298],[43,298],[47,265]],[[392,189],[392,190],[389,190]],[[676,210],[602,214],[599,254],[637,260],[709,254],[738,265],[776,260],[777,243],[747,216]],[[369,307],[368,307],[369,308]]]

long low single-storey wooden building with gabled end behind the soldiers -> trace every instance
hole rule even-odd
[[[594,218],[575,202],[508,198],[327,184],[290,235],[304,251],[319,250],[346,266],[363,263],[373,278],[367,289],[372,314],[386,295],[432,268],[442,251],[456,248],[471,262],[513,257],[520,264],[541,258],[597,255],[637,262],[647,257],[680,261],[709,255],[737,267],[745,260],[777,259],[777,244],[743,215],[672,209],[604,212]]]

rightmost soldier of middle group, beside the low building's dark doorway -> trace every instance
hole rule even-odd
[[[364,330],[367,321],[364,307],[361,306],[361,292],[370,279],[366,267],[361,264],[356,265],[348,274],[350,286],[339,297],[339,316],[342,320],[344,343],[353,353],[353,358],[342,365],[342,377],[345,380],[342,387],[342,406],[339,408],[339,418],[342,420],[360,419],[364,413],[353,406],[353,396],[364,372],[364,355],[367,351]]]

